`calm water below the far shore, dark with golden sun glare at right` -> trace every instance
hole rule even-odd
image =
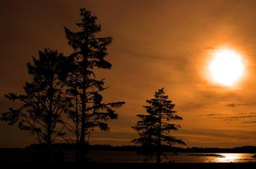
[[[65,151],[65,161],[75,162],[74,151]],[[193,156],[191,156],[193,154]],[[214,156],[197,156],[202,154],[215,154]],[[175,163],[243,163],[256,162],[256,157],[252,157],[256,153],[166,153],[162,157],[163,162]],[[138,155],[133,151],[90,151],[88,154],[91,162],[111,162],[111,163],[141,163],[144,156]],[[0,151],[0,162],[31,162],[33,153],[28,150]],[[156,162],[155,158],[151,158],[147,162]]]

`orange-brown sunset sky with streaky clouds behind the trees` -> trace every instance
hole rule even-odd
[[[159,88],[183,117],[173,132],[188,147],[256,146],[256,1],[246,0],[55,0],[1,1],[0,112],[13,103],[3,95],[23,93],[27,62],[38,50],[72,52],[63,26],[75,29],[85,7],[111,35],[106,101],[124,100],[109,132],[96,131],[92,144],[130,145],[137,114]],[[230,50],[242,60],[241,77],[225,86],[209,71],[214,52]],[[227,65],[228,66],[228,65]],[[0,147],[35,143],[27,132],[0,121]]]

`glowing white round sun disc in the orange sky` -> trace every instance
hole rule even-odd
[[[232,86],[244,74],[242,56],[233,50],[218,50],[214,53],[209,69],[214,81]]]

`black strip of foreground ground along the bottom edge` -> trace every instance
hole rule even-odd
[[[125,169],[125,168],[195,168],[195,169],[222,169],[222,168],[256,168],[255,163],[242,163],[242,164],[223,164],[223,163],[180,163],[180,164],[132,164],[132,163],[89,163],[89,164],[76,164],[76,163],[65,163],[65,164],[35,164],[35,163],[3,163],[1,166],[3,168],[118,168],[118,169]]]

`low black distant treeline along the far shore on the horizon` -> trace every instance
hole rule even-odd
[[[145,151],[147,147],[123,145],[87,145],[89,151]],[[26,149],[45,149],[45,144],[33,144],[26,147]],[[72,150],[76,149],[76,144],[57,143],[53,144],[53,149]],[[153,148],[154,150],[154,148]],[[168,147],[162,146],[165,152],[175,153],[256,153],[255,146],[243,146],[234,148],[205,148],[205,147]]]

